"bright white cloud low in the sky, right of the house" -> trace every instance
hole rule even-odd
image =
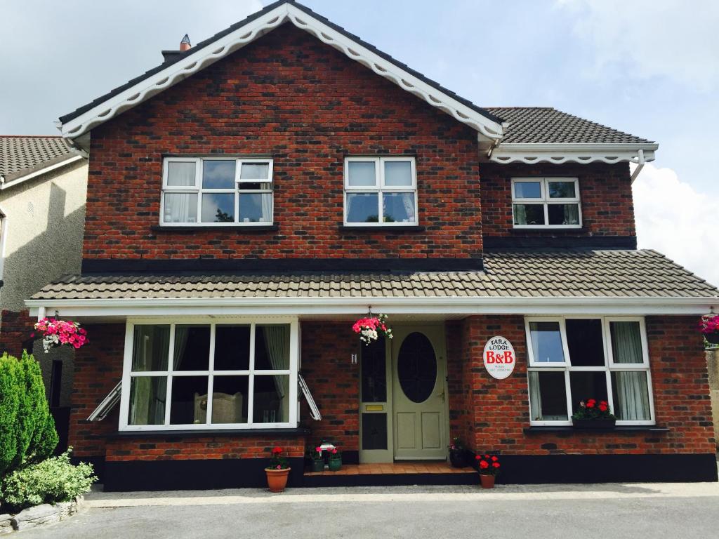
[[[698,193],[670,168],[647,164],[633,185],[640,249],[656,249],[719,285],[719,198]]]

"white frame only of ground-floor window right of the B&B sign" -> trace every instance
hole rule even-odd
[[[569,356],[569,346],[567,344],[567,319],[590,319],[600,320],[602,326],[602,339],[604,351],[604,365],[594,367],[573,367],[572,358]],[[610,339],[610,322],[638,322],[639,331],[641,333],[642,354],[644,362],[642,364],[615,364],[611,354],[612,343]],[[530,322],[559,322],[559,331],[562,332],[562,348],[564,349],[564,364],[559,363],[541,363],[533,361],[533,351],[531,343],[531,333],[529,331]],[[646,372],[646,384],[649,395],[649,416],[648,420],[617,420],[616,424],[621,425],[656,425],[654,416],[654,393],[651,385],[651,369],[649,367],[649,346],[646,338],[646,324],[644,317],[641,316],[597,316],[597,315],[571,315],[571,316],[553,316],[553,317],[527,317],[525,318],[525,333],[527,341],[528,367],[529,372],[564,372],[564,392],[567,397],[567,420],[534,420],[531,416],[531,390],[529,388],[530,380],[527,376],[527,393],[529,402],[529,420],[532,426],[559,426],[572,425],[572,387],[569,374],[572,372],[604,372],[607,384],[607,400],[611,407],[612,413],[615,411],[614,395],[612,390],[612,372],[638,371]]]

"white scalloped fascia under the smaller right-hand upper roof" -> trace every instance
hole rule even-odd
[[[618,163],[654,161],[659,144],[499,144],[492,150],[489,161],[495,163],[549,162],[560,165],[577,163]],[[639,157],[644,152],[643,161]]]

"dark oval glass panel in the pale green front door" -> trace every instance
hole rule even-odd
[[[437,357],[429,338],[423,333],[410,333],[400,346],[397,377],[402,391],[412,402],[424,402],[434,391]]]

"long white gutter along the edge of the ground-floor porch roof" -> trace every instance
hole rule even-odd
[[[631,314],[702,315],[719,298],[122,298],[27,300],[31,315],[58,310],[63,317],[182,315],[354,315],[367,308],[388,314]]]

